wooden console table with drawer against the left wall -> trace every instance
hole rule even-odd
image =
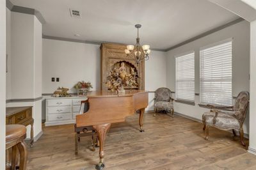
[[[24,126],[31,125],[30,146],[34,143],[34,119],[32,118],[32,106],[28,107],[6,107],[6,125],[20,124]]]

